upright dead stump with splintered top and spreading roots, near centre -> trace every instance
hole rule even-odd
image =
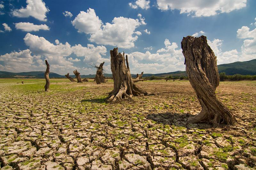
[[[118,53],[118,48],[114,48],[113,50],[110,50],[110,56],[114,90],[109,93],[107,98],[109,102],[114,103],[121,101],[122,99],[130,99],[131,101],[134,101],[132,99],[133,96],[153,95],[138,87],[132,81],[127,55],[125,60],[124,53],[122,55],[121,53]]]

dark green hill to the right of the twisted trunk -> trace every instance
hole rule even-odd
[[[229,64],[218,65],[219,73],[225,72],[226,75],[256,75],[256,59],[250,61],[237,61]]]

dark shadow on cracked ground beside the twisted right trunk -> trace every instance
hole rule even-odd
[[[149,114],[147,115],[147,119],[150,119],[157,123],[161,123],[163,125],[170,125],[170,126],[174,125],[174,126],[186,127],[188,129],[191,129],[191,128],[206,129],[206,128],[212,127],[210,124],[205,124],[205,123],[187,125],[188,117],[193,117],[193,116],[194,115],[189,113],[166,112],[166,113]]]

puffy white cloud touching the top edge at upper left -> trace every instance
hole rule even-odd
[[[26,8],[22,7],[12,11],[12,15],[19,18],[28,18],[32,16],[40,21],[47,21],[46,13],[50,10],[45,6],[42,0],[26,0]]]

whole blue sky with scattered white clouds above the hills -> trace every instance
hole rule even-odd
[[[128,54],[131,73],[185,70],[180,42],[205,35],[218,64],[256,59],[255,0],[0,1],[0,71],[77,69]]]

